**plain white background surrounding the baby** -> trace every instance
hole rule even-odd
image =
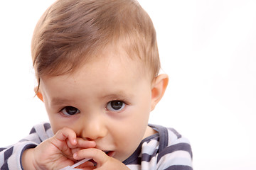
[[[169,87],[150,123],[176,128],[194,169],[256,169],[256,1],[139,1],[154,22]],[[47,121],[33,98],[33,28],[53,0],[1,1],[0,147]]]

